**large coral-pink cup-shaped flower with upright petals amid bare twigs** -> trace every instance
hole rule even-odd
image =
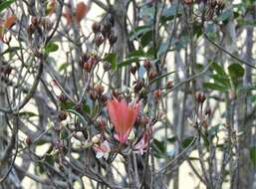
[[[107,108],[117,133],[117,139],[121,143],[126,143],[128,134],[136,120],[139,104],[128,104],[125,99],[119,101],[117,98],[114,98],[108,100]]]

